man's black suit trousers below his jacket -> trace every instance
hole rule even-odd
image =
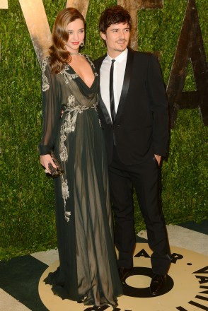
[[[154,274],[165,275],[171,264],[166,224],[161,211],[161,170],[152,156],[137,165],[121,163],[114,147],[109,166],[110,196],[115,216],[115,246],[119,252],[118,266],[133,266],[135,247],[133,189],[137,193],[148,237],[153,251],[151,265]]]

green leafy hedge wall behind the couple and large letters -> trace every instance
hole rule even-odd
[[[42,2],[52,30],[54,18],[67,1]],[[194,2],[207,54],[208,1]],[[138,10],[136,49],[156,52],[168,85],[187,0],[161,3],[161,8],[147,9],[143,5]],[[0,9],[0,259],[56,246],[53,181],[45,176],[37,153],[42,126],[40,64],[19,1],[3,4],[8,4],[8,8]],[[101,11],[113,4],[117,1],[88,1],[82,52],[93,59],[105,53],[98,19]],[[40,33],[44,31],[40,29]],[[179,61],[183,51],[180,53]],[[183,90],[196,90],[191,62]],[[208,148],[207,127],[199,108],[178,110],[170,135],[169,155],[162,168],[166,223],[202,221],[207,217]],[[136,200],[135,219],[135,230],[144,228]]]

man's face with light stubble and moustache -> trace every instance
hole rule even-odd
[[[121,54],[129,44],[129,24],[120,23],[110,25],[106,33],[100,33],[103,40],[106,42],[108,54],[115,58]]]

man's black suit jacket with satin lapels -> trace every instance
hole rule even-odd
[[[106,55],[105,55],[106,56]],[[94,61],[99,74],[104,57]],[[127,65],[115,124],[98,92],[98,114],[105,137],[108,164],[113,141],[122,163],[141,163],[154,154],[166,156],[168,103],[161,67],[153,54],[128,49]]]

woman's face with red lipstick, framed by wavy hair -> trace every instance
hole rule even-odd
[[[67,25],[69,40],[66,43],[67,51],[76,53],[84,39],[83,20],[76,19]]]

